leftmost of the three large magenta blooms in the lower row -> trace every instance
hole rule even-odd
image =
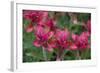
[[[52,47],[50,44],[52,44],[49,40],[53,36],[53,32],[46,30],[42,26],[36,26],[35,28],[35,35],[36,40],[33,42],[34,46],[36,47],[44,47],[47,50],[51,50]],[[49,44],[50,42],[50,44]]]

